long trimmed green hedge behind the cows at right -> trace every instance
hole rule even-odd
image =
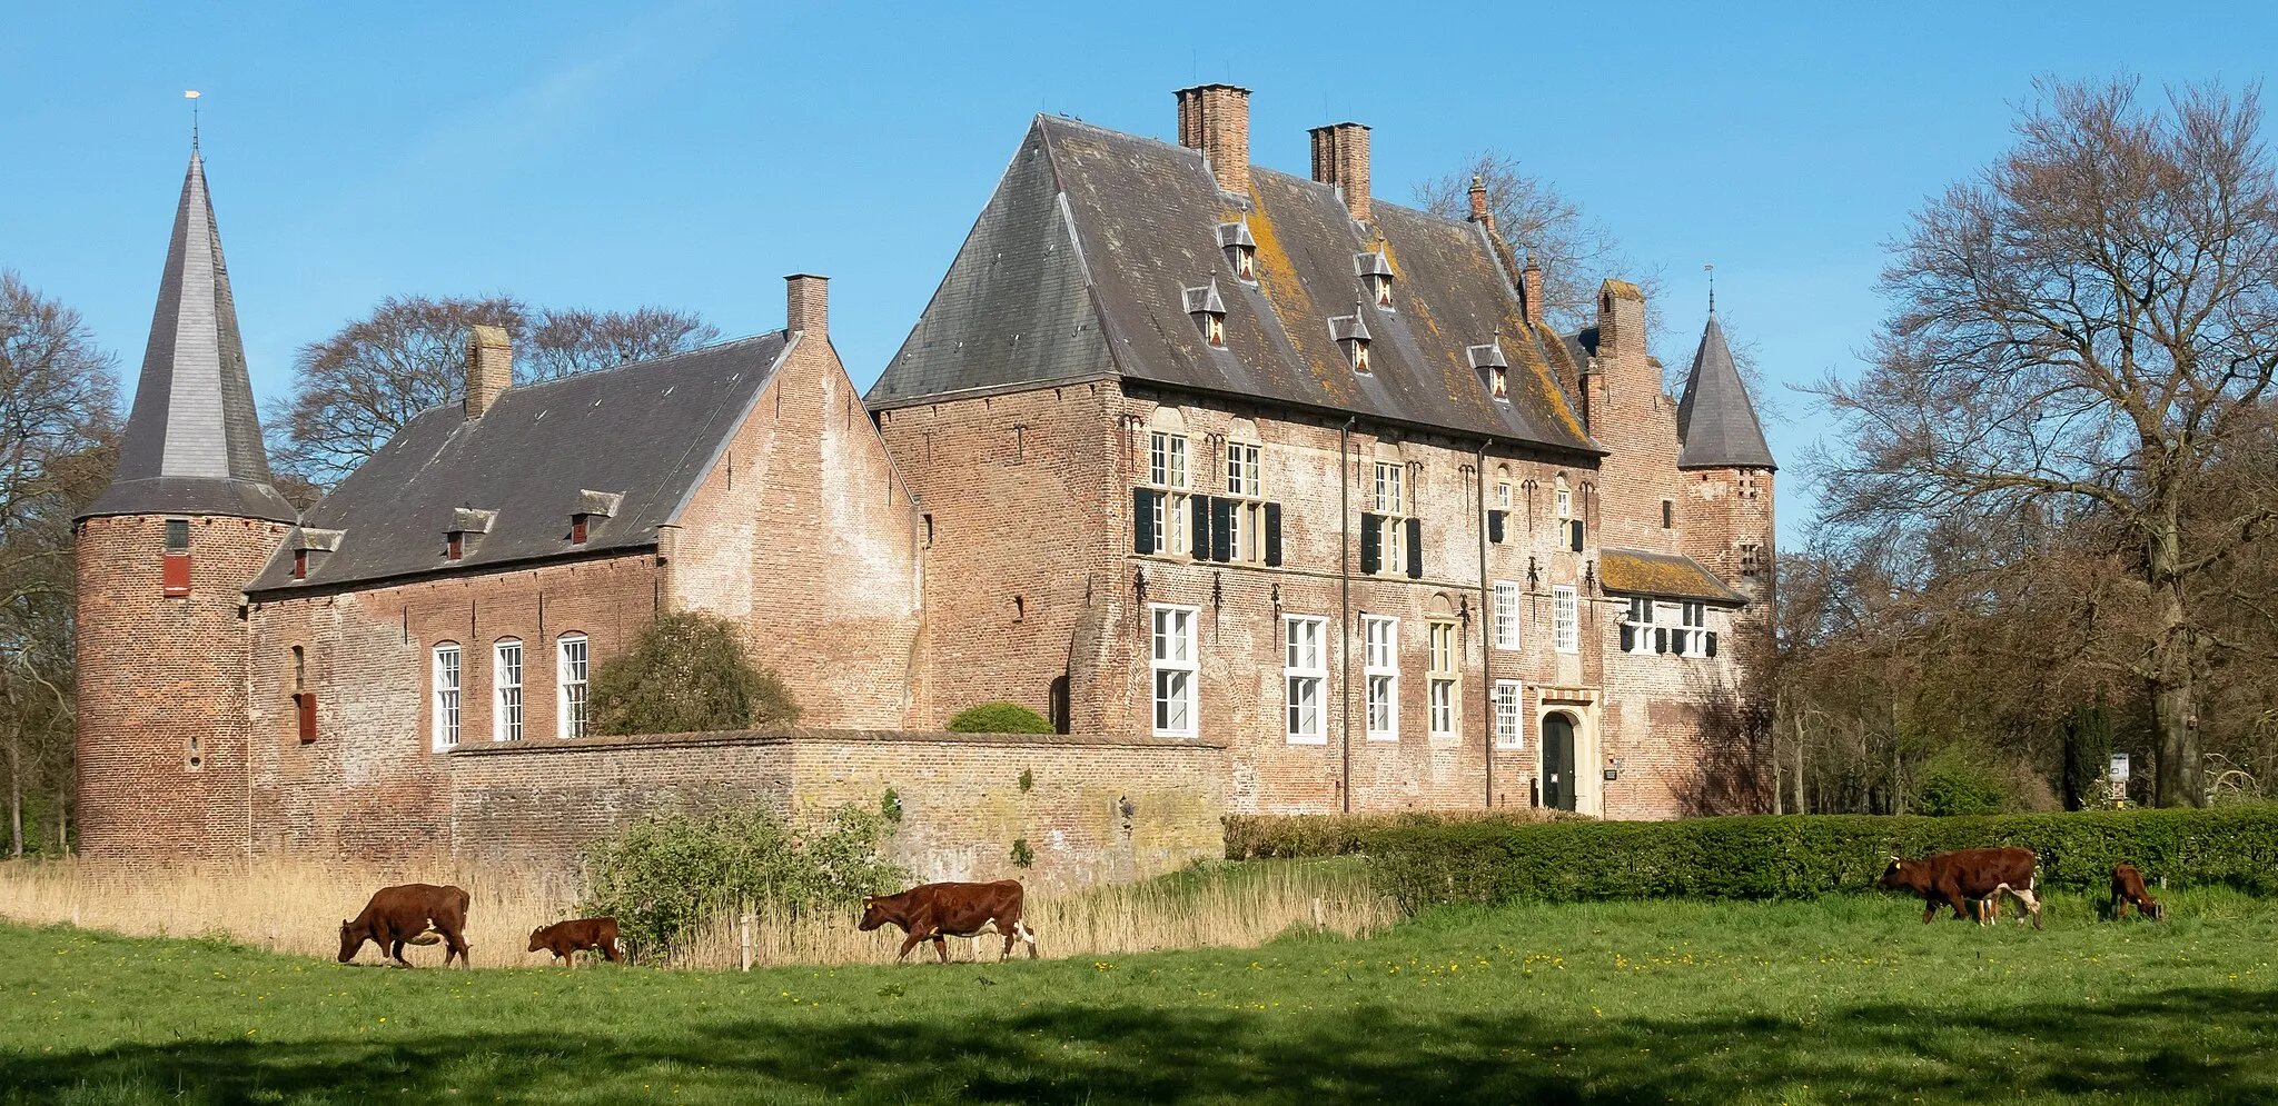
[[[1891,856],[2025,847],[2043,888],[2103,892],[2112,865],[2175,885],[2278,894],[2278,806],[2073,815],[1763,815],[1688,822],[1442,822],[1362,831],[1403,906],[1513,899],[1811,899],[1868,890]]]

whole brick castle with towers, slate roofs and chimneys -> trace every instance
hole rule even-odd
[[[1219,812],[1759,803],[1775,462],[1713,312],[1670,396],[1636,287],[1558,335],[1483,189],[1371,198],[1358,123],[1253,166],[1228,84],[1175,146],[1039,116],[868,394],[827,287],[519,387],[476,328],[465,401],[296,512],[194,148],[80,519],[82,851],[558,853],[891,785],[923,872],[1018,833],[1100,878]],[[740,624],[802,728],[588,735],[661,610]],[[1059,733],[943,733],[991,699]]]

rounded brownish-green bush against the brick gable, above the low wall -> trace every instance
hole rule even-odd
[[[592,733],[695,733],[790,726],[800,703],[752,665],[734,621],[658,614],[633,649],[592,667]]]

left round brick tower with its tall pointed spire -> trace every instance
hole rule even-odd
[[[246,856],[244,585],[294,517],[271,487],[191,143],[118,476],[77,519],[82,856]]]

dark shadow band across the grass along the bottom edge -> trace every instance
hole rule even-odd
[[[608,1033],[376,1045],[166,1045],[0,1058],[0,1101],[1731,1101],[1986,1095],[2278,1097],[2278,992],[2187,988],[2103,1006],[1818,1020],[1558,1022],[1387,1008],[1235,1013],[1055,1006],[986,1024],[724,1017]],[[911,1017],[918,1015],[918,1017]],[[2210,1045],[2223,1040],[2226,1045]],[[2214,1051],[2214,1049],[2228,1051]],[[2121,1051],[2123,1049],[2123,1051]],[[667,1090],[667,1086],[672,1090]]]

